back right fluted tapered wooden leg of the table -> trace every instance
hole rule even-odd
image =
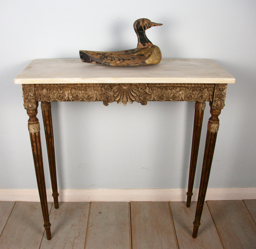
[[[193,195],[193,185],[196,173],[196,163],[197,155],[199,150],[199,142],[201,137],[203,116],[204,116],[205,102],[195,103],[195,116],[194,116],[194,129],[193,129],[193,138],[192,138],[192,149],[191,149],[191,158],[190,158],[190,167],[189,167],[189,179],[188,179],[188,188],[187,188],[187,207],[190,207],[191,197]]]

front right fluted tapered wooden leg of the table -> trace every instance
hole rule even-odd
[[[200,226],[200,219],[202,216],[204,200],[206,196],[207,185],[210,176],[210,170],[212,165],[212,157],[214,152],[214,147],[216,143],[217,132],[219,129],[219,118],[220,110],[212,109],[212,102],[210,102],[210,113],[211,118],[209,118],[208,126],[207,126],[207,134],[206,134],[206,144],[204,149],[204,160],[202,166],[202,173],[201,173],[201,181],[198,193],[198,200],[196,206],[196,216],[193,222],[193,234],[192,237],[197,237],[198,227]]]

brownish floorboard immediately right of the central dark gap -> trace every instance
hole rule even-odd
[[[133,249],[177,248],[168,202],[131,202]]]

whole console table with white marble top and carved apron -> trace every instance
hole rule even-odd
[[[59,207],[52,129],[52,101],[114,101],[124,105],[147,101],[194,101],[194,129],[192,138],[187,207],[190,206],[194,184],[199,141],[205,102],[210,104],[211,117],[207,126],[196,215],[192,237],[196,238],[219,129],[221,109],[224,108],[228,83],[235,79],[210,59],[163,59],[158,65],[110,67],[82,63],[80,59],[38,59],[32,61],[15,79],[22,84],[24,107],[29,115],[28,129],[36,169],[37,185],[47,239],[51,239],[47,206],[44,167],[40,139],[40,125],[36,117],[38,102],[44,121],[52,196]]]

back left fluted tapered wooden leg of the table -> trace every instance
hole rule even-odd
[[[55,165],[55,152],[54,152],[54,139],[53,139],[53,129],[52,129],[52,112],[51,112],[51,103],[42,101],[41,109],[44,121],[44,131],[46,138],[46,146],[48,152],[48,161],[50,168],[50,176],[52,183],[52,196],[54,199],[54,207],[59,208],[58,200],[58,188],[57,188],[57,175],[56,175],[56,165]]]

